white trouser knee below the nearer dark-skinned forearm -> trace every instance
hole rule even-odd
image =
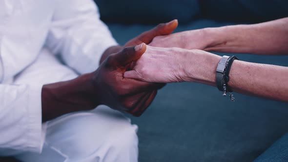
[[[23,152],[21,162],[138,162],[137,126],[100,105],[47,123],[41,154]]]

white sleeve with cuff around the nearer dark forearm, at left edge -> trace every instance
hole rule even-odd
[[[46,130],[41,121],[41,89],[42,85],[0,83],[0,156],[11,154],[9,149],[41,152]]]

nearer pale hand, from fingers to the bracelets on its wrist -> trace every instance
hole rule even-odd
[[[147,82],[201,82],[214,85],[220,57],[203,50],[146,47],[142,57],[132,64],[125,78]]]

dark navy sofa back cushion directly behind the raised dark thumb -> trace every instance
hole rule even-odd
[[[198,0],[95,0],[106,22],[188,22],[199,14]]]

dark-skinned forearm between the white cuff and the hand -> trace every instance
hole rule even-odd
[[[85,74],[70,81],[43,85],[41,92],[43,121],[70,112],[95,108],[98,101],[94,97],[91,78],[91,74]]]

